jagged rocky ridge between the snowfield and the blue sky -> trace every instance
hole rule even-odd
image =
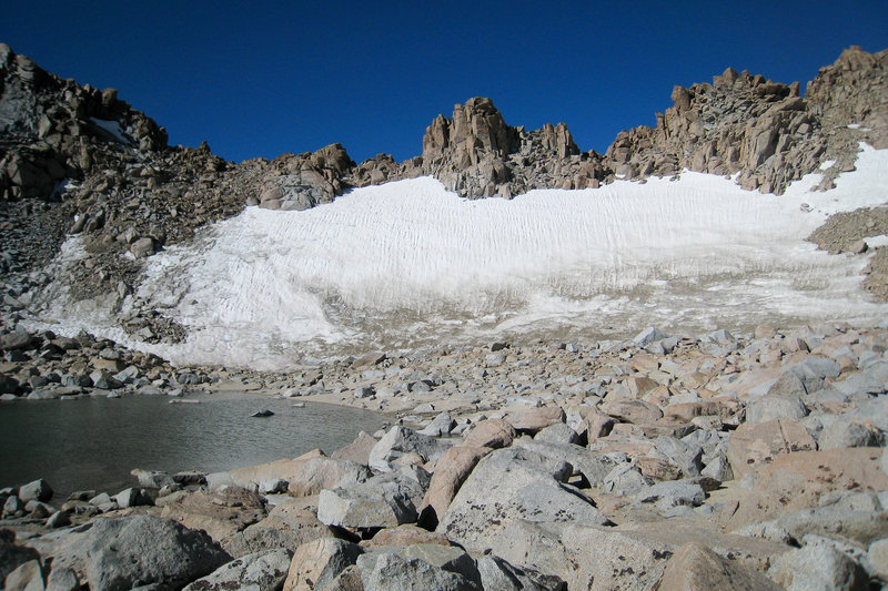
[[[827,167],[823,186],[854,167],[858,142],[888,142],[888,50],[851,48],[808,84],[775,83],[728,69],[713,84],[676,86],[656,128],[620,133],[602,155],[581,152],[567,126],[508,125],[493,102],[468,100],[426,129],[421,155],[381,154],[355,164],[339,144],[234,164],[204,143],[169,146],[165,131],[118,99],[62,80],[0,45],[0,248],[4,315],[17,322],[34,294],[58,279],[46,269],[70,235],[88,253],[71,276],[73,299],[120,306],[140,283],[140,259],[189,241],[248,205],[303,210],[350,187],[433,175],[470,197],[512,197],[533,188],[586,188],[616,177],[644,180],[684,169],[737,175],[746,188],[781,192]],[[877,295],[885,265],[874,262]],[[22,304],[17,306],[14,303]],[[134,302],[121,325],[149,343],[182,328]],[[141,332],[141,333],[140,333]]]

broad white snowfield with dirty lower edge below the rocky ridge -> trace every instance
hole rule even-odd
[[[184,343],[134,343],[101,303],[60,297],[43,320],[174,363],[269,369],[526,334],[880,319],[888,305],[860,287],[866,257],[805,242],[828,214],[888,201],[888,151],[861,150],[826,193],[809,191],[818,174],[774,196],[684,172],[467,201],[423,177],[303,212],[248,207],[147,259],[138,296],[184,325]]]

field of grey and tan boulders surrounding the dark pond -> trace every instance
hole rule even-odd
[[[220,473],[134,470],[132,488],[58,506],[43,481],[2,489],[6,589],[888,581],[888,323],[696,337],[648,328],[623,342],[375,353],[238,376],[107,359],[120,348],[65,348],[47,334],[19,345],[21,335],[2,343],[23,368],[48,349],[139,368],[129,384],[118,379],[125,367],[103,376],[117,390],[240,384],[397,422],[329,455]],[[75,363],[46,363],[78,375]],[[17,400],[73,387],[19,377],[4,381],[18,383]],[[98,384],[77,387],[114,391]]]

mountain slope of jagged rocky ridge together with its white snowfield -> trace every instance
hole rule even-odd
[[[232,343],[278,330],[278,336],[260,337],[265,339],[262,350],[275,349],[270,354],[274,357],[293,346],[321,353],[342,348],[350,339],[360,348],[432,338],[398,336],[415,333],[417,326],[433,336],[454,337],[473,330],[477,336],[538,328],[541,323],[556,330],[585,326],[599,333],[615,332],[614,324],[635,323],[625,326],[632,330],[637,323],[656,320],[645,308],[672,309],[669,298],[678,295],[670,292],[676,282],[696,282],[710,291],[727,285],[730,292],[744,282],[766,285],[780,276],[780,282],[795,283],[795,287],[778,289],[776,299],[760,305],[760,310],[781,317],[877,309],[858,293],[856,275],[866,259],[815,256],[809,253],[813,247],[800,241],[829,213],[885,201],[869,188],[864,198],[856,198],[848,188],[860,183],[871,188],[884,179],[875,155],[867,156],[864,175],[839,186],[838,193],[818,197],[808,190],[826,191],[840,173],[854,170],[860,142],[877,147],[888,144],[888,50],[876,54],[847,50],[835,64],[821,69],[805,99],[798,95],[799,84],[774,83],[730,69],[713,84],[676,86],[674,105],[657,116],[656,128],[619,134],[604,155],[581,152],[563,123],[535,131],[511,126],[490,99],[476,98],[456,105],[453,118],[438,115],[432,122],[420,156],[396,163],[380,155],[361,164],[352,162],[339,144],[240,164],[214,156],[205,144],[169,146],[163,129],[118,100],[115,91],[63,81],[6,45],[0,47],[0,223],[7,236],[0,264],[8,296],[4,313],[13,323],[16,314],[36,313],[43,320],[70,320],[71,326],[104,330],[134,344],[192,339],[192,345],[194,335],[206,326],[229,323],[234,328],[225,338]],[[696,176],[683,170],[731,180],[699,185]],[[816,176],[805,177],[814,172]],[[424,176],[435,177],[441,185],[420,182]],[[790,191],[790,184],[803,177]],[[340,202],[353,187],[410,179],[420,184],[393,185],[381,188],[382,193],[353,191],[342,207],[297,213]],[[647,180],[650,192],[622,179]],[[791,194],[778,202],[770,196],[749,201],[753,196],[741,191],[731,193],[733,183],[761,193]],[[606,185],[607,191],[599,188]],[[471,202],[458,200],[453,205],[458,213],[448,213],[450,205],[440,210],[451,198],[442,190],[463,197],[512,198],[539,188],[585,192],[542,193],[511,204],[485,202],[477,206],[486,212],[483,215]],[[386,204],[403,191],[415,194],[390,208]],[[647,196],[634,202],[629,195],[636,191]],[[720,194],[731,196],[720,201]],[[367,197],[369,208],[352,217],[367,195],[375,195]],[[612,200],[614,205],[604,206]],[[840,200],[841,206],[824,200]],[[528,207],[528,203],[536,205]],[[686,210],[690,203],[695,205]],[[751,217],[741,216],[740,223],[719,213],[719,207],[733,211],[738,204],[760,207],[755,218],[761,227],[753,227]],[[271,210],[272,217],[254,210],[244,212],[249,205]],[[546,212],[553,207],[564,217],[547,222]],[[346,211],[351,213],[336,213]],[[810,211],[811,215],[801,215]],[[658,212],[656,223],[644,226],[642,221],[652,212]],[[676,216],[676,212],[684,214]],[[763,212],[768,212],[765,217]],[[695,217],[696,213],[702,217]],[[250,226],[258,216],[268,224]],[[218,225],[224,220],[230,223]],[[305,236],[278,226],[291,220],[317,221],[321,225],[315,228],[325,227],[325,237],[310,244]],[[577,225],[577,220],[584,222]],[[690,220],[696,222],[685,225]],[[775,220],[794,230],[768,231]],[[441,224],[448,234],[441,234]],[[647,227],[644,236],[635,233],[639,224]],[[412,230],[403,232],[404,225]],[[352,230],[343,232],[343,227]],[[490,234],[492,228],[494,234]],[[225,251],[229,231],[251,235],[254,242],[264,241],[262,236],[271,241],[269,251],[252,253],[254,263],[272,261],[275,253],[285,253],[284,262],[251,266],[244,248],[229,245]],[[68,235],[78,237],[61,248]],[[353,240],[359,235],[365,237]],[[536,236],[535,242],[527,243],[527,235]],[[286,240],[275,243],[271,240],[275,236]],[[430,241],[430,236],[436,237]],[[682,240],[676,242],[677,236]],[[750,236],[763,248],[743,254]],[[319,244],[321,249],[311,254]],[[229,261],[209,276],[211,285],[203,286],[192,272],[209,264],[204,256],[215,247],[222,248],[221,254],[212,256],[232,255],[235,268],[245,265],[240,268],[253,275],[256,268],[265,268],[269,276],[260,277],[264,287],[244,296],[235,288],[238,276],[213,287],[215,277],[229,276],[224,268]],[[60,248],[58,264],[47,267]],[[781,261],[783,254],[773,254],[780,248],[798,251],[798,256]],[[362,258],[374,252],[384,253],[389,261],[411,253],[410,263],[392,267]],[[501,264],[501,257],[517,266]],[[314,264],[311,261],[317,263],[305,275]],[[353,264],[359,261],[364,261],[363,266]],[[461,277],[460,268],[468,261],[474,262]],[[417,271],[423,268],[431,269],[431,275]],[[834,305],[837,300],[829,295],[834,286],[821,285],[828,281],[854,289],[855,303],[845,308]],[[678,306],[684,312],[664,322],[706,325],[707,317],[733,306],[729,298],[706,299],[699,285]],[[776,303],[791,293],[805,299],[809,292],[816,294],[799,300],[799,310],[793,309],[789,299]],[[253,300],[222,318],[225,309],[240,305],[219,299],[225,293],[232,300]],[[262,299],[269,294],[276,299]],[[769,296],[763,292],[755,297],[767,300]],[[299,305],[281,308],[275,304],[291,299]],[[546,309],[542,315],[533,312],[539,305]],[[275,325],[274,315],[287,314],[281,312],[285,309],[299,322]],[[628,312],[608,316],[602,313],[607,309]],[[712,313],[700,312],[706,309]],[[737,309],[740,322],[746,308]],[[423,325],[430,314],[435,322]],[[593,322],[596,314],[602,322]],[[312,323],[299,319],[303,317],[316,320],[312,328],[304,328]],[[445,329],[466,323],[468,330]],[[205,335],[210,337],[204,347],[220,343],[220,335]],[[194,347],[182,350],[193,353]]]

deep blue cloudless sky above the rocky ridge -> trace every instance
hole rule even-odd
[[[888,1],[6,0],[0,41],[229,160],[340,142],[401,161],[475,95],[604,152],[653,124],[674,84],[733,65],[804,89],[848,45],[888,48]]]

